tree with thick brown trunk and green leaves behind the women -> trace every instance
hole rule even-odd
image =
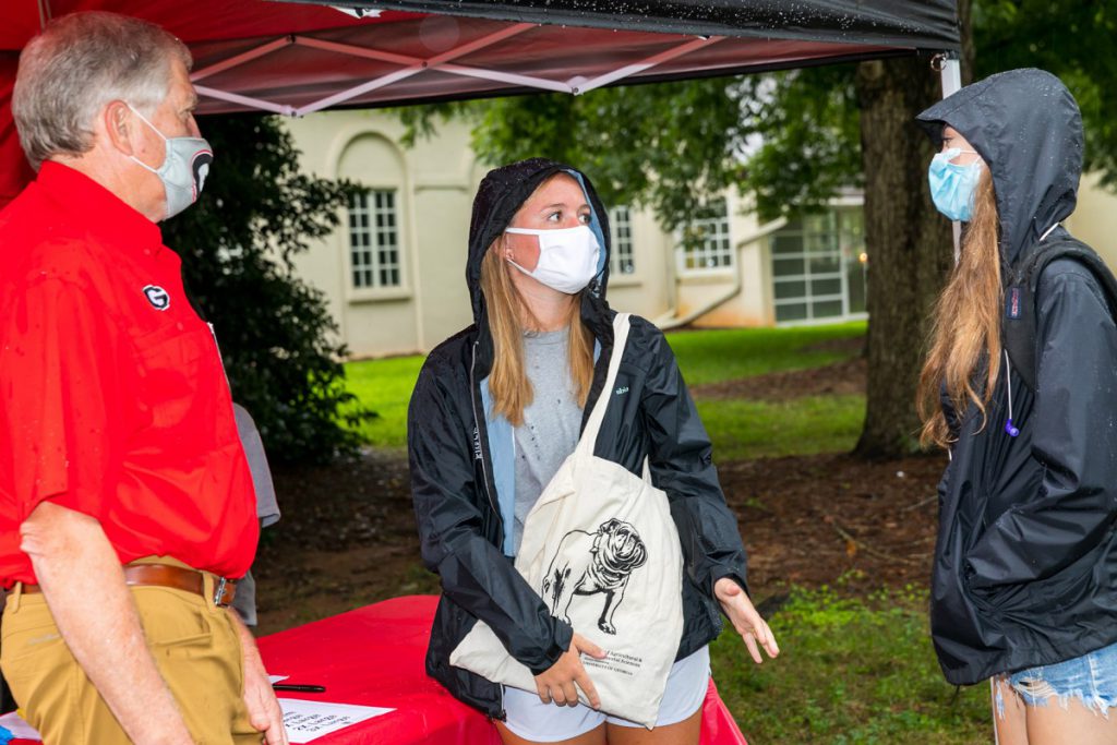
[[[1060,76],[1082,109],[1087,169],[1101,171],[1102,183],[1117,188],[1117,97],[1108,95],[1117,84],[1117,56],[1110,50],[1117,2],[958,0],[958,15],[963,78],[971,70],[980,78],[1028,66]],[[925,137],[911,136],[914,116],[937,95],[927,63],[887,60],[579,97],[417,107],[404,111],[403,120],[417,136],[431,132],[440,116],[465,116],[476,125],[474,149],[483,160],[550,155],[571,162],[594,176],[607,203],[650,206],[667,229],[688,222],[727,187],[753,195],[765,219],[821,208],[842,187],[865,185],[876,311],[868,416],[858,451],[900,455],[911,447],[915,429],[910,402],[922,326],[949,256],[946,222],[925,194],[930,150]],[[867,126],[862,113],[870,108],[873,124]],[[881,136],[903,141],[906,150],[878,147]],[[918,179],[889,178],[897,169]],[[888,200],[903,201],[905,211],[889,214]],[[870,219],[870,211],[877,218]],[[904,279],[915,286],[899,287]]]

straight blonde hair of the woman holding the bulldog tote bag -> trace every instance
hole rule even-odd
[[[508,276],[512,267],[503,259],[504,240],[502,236],[493,241],[481,260],[481,294],[493,335],[494,359],[488,385],[495,413],[502,414],[513,427],[521,427],[524,409],[535,395],[524,371],[524,332],[537,329],[538,324]],[[593,383],[593,335],[582,323],[581,307],[582,293],[571,296],[567,316],[570,376],[577,403],[584,409]]]

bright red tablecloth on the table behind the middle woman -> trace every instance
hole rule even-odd
[[[395,598],[259,640],[268,672],[326,687],[324,694],[283,697],[395,709],[315,745],[500,745],[487,718],[423,670],[437,602],[431,595]],[[713,681],[703,711],[703,745],[747,745]]]

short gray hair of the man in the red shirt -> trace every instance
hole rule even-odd
[[[11,111],[36,171],[52,155],[93,147],[94,120],[113,101],[150,117],[166,98],[171,60],[190,51],[159,26],[89,11],[50,21],[19,56]]]

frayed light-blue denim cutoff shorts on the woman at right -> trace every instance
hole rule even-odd
[[[1086,708],[1108,716],[1117,707],[1117,643],[1081,657],[1028,668],[1008,676],[1028,706],[1046,706],[1057,697],[1062,706],[1075,697]]]

